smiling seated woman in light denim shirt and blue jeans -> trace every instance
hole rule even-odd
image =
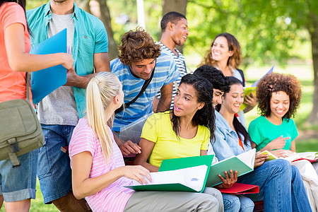
[[[229,77],[230,90],[216,112],[216,141],[212,142],[219,160],[249,151],[256,145],[235,114],[244,101],[242,83]],[[259,194],[245,195],[253,201],[264,200],[264,211],[311,211],[302,178],[297,167],[287,160],[269,160],[269,155],[255,155],[254,171],[238,177],[237,182],[256,184]]]

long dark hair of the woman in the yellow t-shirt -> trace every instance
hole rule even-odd
[[[201,78],[191,73],[182,77],[180,81],[180,85],[182,83],[193,86],[193,88],[196,90],[197,102],[205,103],[204,107],[202,107],[201,110],[197,110],[196,114],[194,114],[194,117],[192,118],[192,124],[196,126],[202,125],[202,126],[208,127],[211,133],[210,139],[214,141],[216,138],[214,136],[214,131],[216,128],[215,126],[216,116],[214,114],[214,110],[212,106],[212,98],[213,98],[212,84],[205,78]],[[172,109],[171,122],[173,124],[172,129],[173,131],[175,131],[175,134],[177,134],[178,136],[179,130],[180,130],[180,121],[179,121],[179,117],[177,117],[173,113],[173,109]]]

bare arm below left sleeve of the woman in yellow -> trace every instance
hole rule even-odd
[[[142,165],[150,172],[158,172],[159,167],[156,167],[154,165],[151,165],[150,163],[147,163],[147,160],[149,158],[149,155],[153,151],[153,146],[155,146],[155,143],[153,141],[149,141],[147,139],[140,139],[139,145],[141,146],[141,153],[139,155],[136,155],[136,158],[134,160],[134,165]]]

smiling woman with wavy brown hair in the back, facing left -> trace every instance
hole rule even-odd
[[[243,87],[245,87],[245,76],[241,69],[237,69],[237,66],[241,63],[241,47],[237,39],[230,33],[221,33],[214,38],[211,48],[206,58],[201,65],[214,66],[223,72],[225,76],[234,76],[238,78]],[[257,105],[257,99],[254,94],[247,95],[245,103],[248,105],[245,107],[244,112],[249,112]],[[240,121],[245,125],[244,112],[240,112]]]

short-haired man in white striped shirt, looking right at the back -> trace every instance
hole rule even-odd
[[[165,49],[172,55],[180,73],[179,78],[177,78],[177,80],[173,83],[172,102],[170,105],[170,109],[172,110],[173,98],[175,98],[175,94],[177,93],[177,87],[179,86],[182,76],[187,74],[184,57],[181,52],[178,51],[176,45],[182,46],[184,42],[186,42],[189,35],[188,23],[187,18],[181,13],[170,12],[163,16],[160,25],[162,35],[158,44],[161,46],[161,49]],[[153,101],[154,110],[160,100],[160,95],[161,94],[158,93],[157,97]]]

